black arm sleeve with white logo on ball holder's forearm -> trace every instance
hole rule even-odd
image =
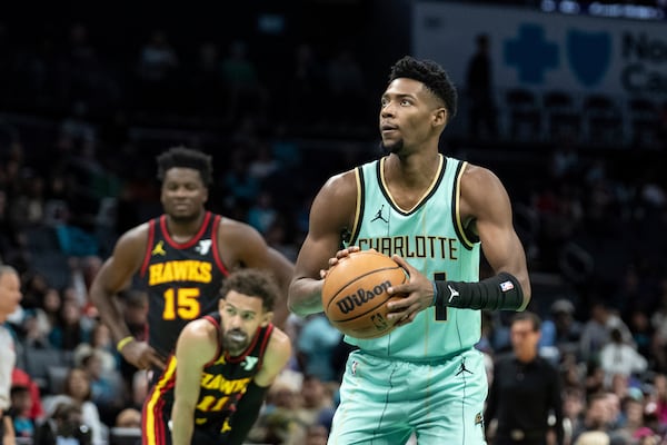
[[[478,283],[436,280],[435,284],[437,307],[518,310],[524,305],[519,280],[507,273]]]

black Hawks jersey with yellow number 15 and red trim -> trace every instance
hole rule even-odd
[[[165,215],[149,221],[139,278],[148,293],[148,342],[163,356],[176,348],[186,324],[215,312],[227,275],[218,246],[219,215],[207,211],[192,239],[176,243]]]

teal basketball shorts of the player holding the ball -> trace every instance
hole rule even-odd
[[[352,352],[340,386],[329,445],[486,444],[488,393],[482,354],[468,349],[415,363]]]

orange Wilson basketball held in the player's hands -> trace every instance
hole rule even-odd
[[[350,254],[325,278],[322,306],[334,327],[356,338],[377,338],[394,330],[387,319],[387,289],[407,283],[405,270],[375,250]]]

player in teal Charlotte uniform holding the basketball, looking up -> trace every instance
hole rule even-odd
[[[480,310],[524,310],[530,284],[500,180],[438,151],[456,102],[440,66],[399,60],[381,97],[388,155],[331,177],[312,202],[290,285],[293,313],[322,310],[322,278],[350,251],[392,255],[410,276],[389,289],[404,296],[388,315],[398,328],[376,339],[346,337],[358,349],[348,357],[329,444],[397,445],[411,434],[419,445],[486,443],[488,384],[474,347]],[[496,274],[482,280],[480,253]]]

